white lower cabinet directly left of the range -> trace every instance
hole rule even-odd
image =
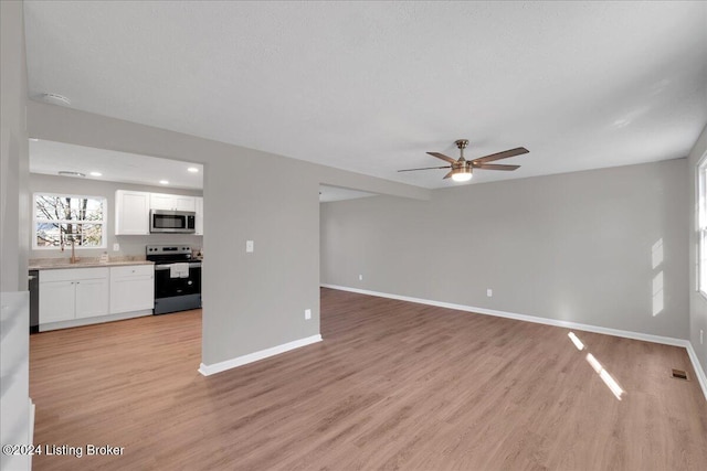
[[[155,266],[110,268],[110,313],[155,308]]]

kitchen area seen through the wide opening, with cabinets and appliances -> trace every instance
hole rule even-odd
[[[30,332],[201,308],[203,168],[30,140]]]

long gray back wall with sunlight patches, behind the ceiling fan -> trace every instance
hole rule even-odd
[[[321,282],[687,339],[686,175],[678,159],[325,203]]]

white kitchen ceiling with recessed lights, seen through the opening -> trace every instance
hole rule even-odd
[[[194,168],[197,172],[188,169]],[[30,140],[30,172],[80,172],[88,180],[136,183],[165,189],[203,189],[203,165],[46,140]],[[91,172],[99,172],[94,176]],[[160,181],[167,181],[167,184]]]

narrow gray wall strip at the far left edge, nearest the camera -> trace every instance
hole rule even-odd
[[[31,443],[29,397],[27,62],[22,3],[0,1],[0,442]],[[22,291],[22,292],[21,292]],[[30,469],[0,453],[0,468]]]

